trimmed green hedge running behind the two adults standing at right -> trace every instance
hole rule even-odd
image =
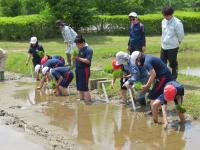
[[[183,22],[185,32],[200,32],[200,13],[177,11],[175,16]],[[161,13],[139,16],[139,20],[145,26],[147,35],[161,34],[162,19]],[[94,23],[88,28],[87,32],[93,31],[100,34],[128,34],[130,22],[127,15],[96,16],[94,20]]]

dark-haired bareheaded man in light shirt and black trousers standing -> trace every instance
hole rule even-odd
[[[162,20],[162,39],[160,58],[164,63],[172,68],[173,79],[176,80],[178,75],[177,54],[179,45],[184,37],[184,29],[182,22],[173,16],[172,7],[165,7],[162,10],[164,19]]]

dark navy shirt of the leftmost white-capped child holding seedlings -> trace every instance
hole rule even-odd
[[[33,56],[33,61],[40,61],[41,60],[41,57],[38,55],[39,51],[44,52],[44,49],[43,49],[42,45],[40,45],[40,44],[38,44],[35,47],[29,48],[28,53]]]

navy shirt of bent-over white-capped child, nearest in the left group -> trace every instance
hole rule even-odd
[[[67,79],[68,74],[72,73],[68,67],[58,67],[52,70],[52,76],[58,80],[61,76]]]

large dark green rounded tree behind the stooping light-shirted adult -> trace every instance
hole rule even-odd
[[[76,30],[88,27],[94,15],[91,0],[47,0],[57,19],[64,19]]]

